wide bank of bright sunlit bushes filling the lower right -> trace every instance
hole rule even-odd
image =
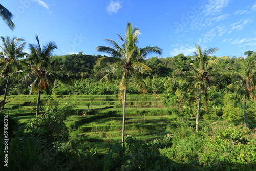
[[[255,130],[216,122],[198,133],[189,124],[168,127],[173,146],[162,151],[177,170],[255,170]]]

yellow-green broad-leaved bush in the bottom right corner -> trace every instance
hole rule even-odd
[[[205,169],[255,170],[255,135],[255,131],[242,125],[212,125],[198,156],[199,161]]]

